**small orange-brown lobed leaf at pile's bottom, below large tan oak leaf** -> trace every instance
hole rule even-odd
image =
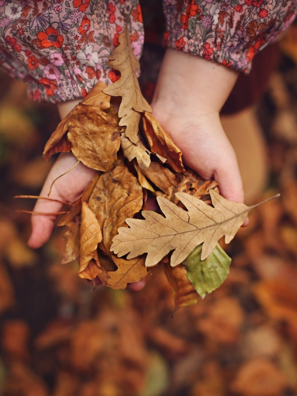
[[[136,257],[131,260],[112,256],[118,269],[114,272],[108,272],[108,286],[112,289],[125,289],[127,283],[142,281],[148,274],[145,266],[145,257]]]

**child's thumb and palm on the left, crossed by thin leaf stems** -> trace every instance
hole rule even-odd
[[[49,176],[41,191],[41,197],[47,197],[52,181],[59,175],[65,173],[77,162],[74,155],[63,153],[59,156],[49,172]],[[96,171],[79,163],[70,173],[58,179],[50,194],[50,198],[72,202],[77,199],[87,185],[92,181]],[[59,202],[39,199],[34,207],[34,211],[43,213],[52,213],[60,211],[62,204]],[[32,234],[29,238],[28,245],[33,248],[43,246],[48,240],[54,228],[54,221],[57,216],[46,216],[33,214],[31,217]]]

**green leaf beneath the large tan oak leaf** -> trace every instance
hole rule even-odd
[[[196,247],[183,261],[187,277],[202,298],[217,289],[229,274],[231,258],[216,244],[214,250],[201,260],[202,245]]]

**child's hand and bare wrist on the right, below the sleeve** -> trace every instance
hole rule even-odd
[[[236,79],[237,73],[223,65],[168,49],[152,109],[185,163],[203,179],[215,179],[225,198],[243,202],[236,155],[219,118]]]

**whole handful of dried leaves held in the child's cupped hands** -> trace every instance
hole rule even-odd
[[[71,150],[98,171],[58,223],[68,227],[62,263],[79,257],[81,278],[99,277],[113,289],[144,279],[147,267],[162,263],[176,306],[189,305],[225,280],[231,259],[217,242],[225,235],[229,243],[252,207],[221,197],[216,182],[185,168],[181,150],[141,94],[127,29],[119,43],[109,64],[120,79],[99,82],[44,151],[49,158]],[[122,97],[118,114],[111,96]],[[160,213],[146,210],[148,196],[157,197]]]

